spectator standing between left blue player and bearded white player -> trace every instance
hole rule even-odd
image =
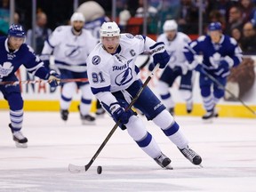
[[[47,28],[47,16],[44,12],[36,14],[36,47],[33,47],[36,54],[40,54],[44,48],[44,41],[51,35],[51,28]],[[32,29],[28,30],[27,44],[32,46]]]

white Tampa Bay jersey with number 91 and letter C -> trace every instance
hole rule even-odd
[[[117,92],[128,88],[139,78],[140,69],[135,66],[138,55],[149,51],[155,41],[143,36],[122,34],[116,54],[109,54],[102,44],[97,44],[87,58],[88,78],[93,94]]]

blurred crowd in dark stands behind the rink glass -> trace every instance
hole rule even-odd
[[[87,2],[78,1],[79,4]],[[112,0],[97,0],[111,19]],[[212,22],[220,21],[224,34],[233,36],[240,44],[244,54],[256,53],[256,1],[255,0],[149,0],[148,1],[148,34],[161,34],[164,20],[176,20],[179,31],[188,35],[198,35],[198,20],[200,4],[203,10],[203,29]],[[0,34],[6,35],[9,26],[9,0],[0,0]],[[42,18],[45,15],[41,28],[54,28],[68,24],[73,10],[73,0],[37,0],[37,12]],[[61,6],[60,6],[61,4]],[[14,22],[19,22],[27,30],[31,28],[32,4],[28,0],[15,1]],[[143,17],[143,0],[116,0],[116,17],[125,12],[126,20]],[[128,12],[128,13],[127,13]],[[38,14],[37,14],[37,17]],[[47,20],[48,18],[48,20]],[[38,18],[37,18],[38,23]],[[39,24],[38,24],[39,25]],[[125,29],[125,28],[124,28]],[[38,32],[38,30],[37,30]],[[206,30],[203,30],[205,33]],[[45,31],[39,34],[45,35]],[[140,28],[140,33],[142,29]]]

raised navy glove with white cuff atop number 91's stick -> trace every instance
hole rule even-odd
[[[150,52],[153,55],[154,63],[159,63],[159,68],[165,68],[166,64],[170,60],[170,55],[166,52],[163,42],[158,42],[149,47]]]

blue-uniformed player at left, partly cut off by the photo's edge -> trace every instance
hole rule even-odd
[[[23,65],[29,73],[48,80],[52,87],[58,86],[60,76],[55,71],[44,68],[44,62],[24,43],[25,37],[25,30],[18,24],[10,26],[7,37],[0,37],[0,82],[18,81],[15,72]],[[20,132],[23,122],[20,84],[0,84],[0,91],[9,104],[12,139],[18,148],[27,148],[28,139]]]

